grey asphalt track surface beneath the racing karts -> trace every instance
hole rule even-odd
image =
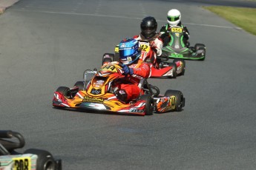
[[[0,129],[21,132],[63,169],[255,169],[256,37],[203,10],[200,2],[22,0],[0,16]],[[206,61],[187,61],[177,79],[150,79],[186,97],[182,112],[137,117],[53,109],[58,86],[73,86],[102,54],[182,12],[191,44]]]

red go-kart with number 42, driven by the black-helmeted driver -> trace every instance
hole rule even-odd
[[[177,75],[185,74],[186,63],[183,59],[174,59],[173,62],[167,62],[168,55],[161,55],[154,60],[149,55],[152,50],[149,42],[145,40],[138,41],[141,50],[140,58],[151,66],[150,78],[177,78]],[[102,57],[102,64],[111,61],[119,61],[119,45],[115,47],[115,54],[105,53]]]

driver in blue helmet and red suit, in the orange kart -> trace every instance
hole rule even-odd
[[[119,61],[122,64],[122,70],[125,81],[115,84],[117,91],[116,98],[124,103],[140,96],[138,84],[140,79],[148,78],[150,75],[150,66],[140,59],[139,42],[134,38],[127,38],[119,44]],[[127,81],[127,82],[126,82]]]

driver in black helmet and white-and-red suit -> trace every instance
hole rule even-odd
[[[160,34],[157,33],[157,21],[152,16],[147,16],[142,19],[140,23],[140,35],[135,35],[134,39],[146,40],[151,46],[150,58],[151,63],[155,63],[156,58],[162,55],[163,41],[159,38]]]

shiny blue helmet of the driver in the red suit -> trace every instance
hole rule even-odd
[[[133,38],[126,38],[119,44],[119,61],[122,64],[132,64],[140,58],[139,42]]]

